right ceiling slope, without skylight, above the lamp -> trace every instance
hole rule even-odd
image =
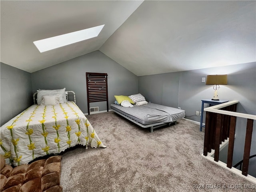
[[[144,1],[100,47],[137,76],[256,61],[255,1]]]

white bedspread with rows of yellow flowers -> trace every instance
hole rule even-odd
[[[14,166],[58,154],[76,144],[106,147],[71,101],[54,106],[32,105],[1,126],[0,131],[0,153]]]

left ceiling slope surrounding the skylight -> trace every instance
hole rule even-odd
[[[1,62],[35,72],[98,50],[143,1],[1,1]],[[105,24],[96,38],[40,53],[33,44]]]

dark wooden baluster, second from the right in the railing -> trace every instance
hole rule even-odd
[[[231,116],[230,117],[229,142],[228,142],[228,160],[227,160],[228,168],[232,168],[235,131],[236,131],[236,117]]]

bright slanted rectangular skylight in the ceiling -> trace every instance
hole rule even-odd
[[[55,37],[34,41],[33,43],[38,48],[38,50],[42,53],[48,50],[52,50],[65,45],[69,45],[72,43],[76,43],[79,41],[96,37],[98,36],[98,34],[100,33],[103,27],[104,25],[100,25],[100,26],[96,26],[96,27],[92,27],[92,28],[88,28],[80,31],[75,31],[75,32],[71,32],[71,33],[67,33],[67,34],[63,34]]]

